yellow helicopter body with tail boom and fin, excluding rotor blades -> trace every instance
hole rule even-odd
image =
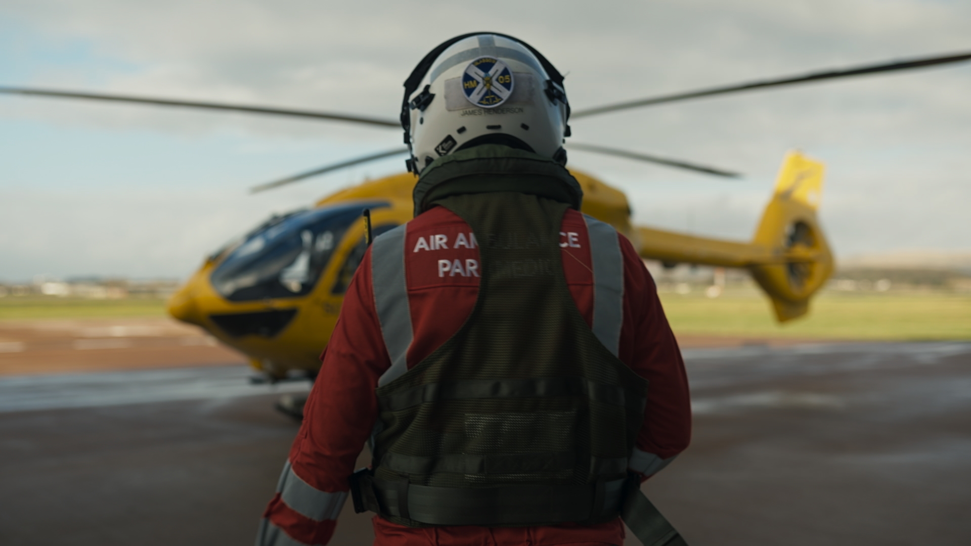
[[[816,220],[822,165],[801,154],[787,156],[775,195],[748,243],[635,227],[623,192],[585,173],[571,173],[584,189],[583,212],[613,225],[641,256],[749,269],[780,322],[805,314],[810,297],[832,272]],[[268,222],[209,257],[172,296],[169,313],[203,327],[273,378],[315,373],[366,248],[360,212],[371,211],[376,233],[408,222],[415,183],[407,173],[366,182],[324,197],[308,212]],[[331,225],[328,214],[341,216],[343,223],[320,227]],[[273,245],[280,244],[271,241],[273,236],[288,237],[288,254],[273,254]]]

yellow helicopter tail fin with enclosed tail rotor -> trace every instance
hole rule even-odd
[[[817,220],[823,165],[799,152],[783,161],[775,193],[755,229],[753,245],[768,251],[749,265],[755,282],[784,323],[809,310],[809,299],[833,271],[833,256]]]

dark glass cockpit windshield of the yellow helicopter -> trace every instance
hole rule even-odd
[[[317,285],[351,224],[385,202],[298,211],[267,222],[232,250],[210,278],[230,301],[299,297]]]

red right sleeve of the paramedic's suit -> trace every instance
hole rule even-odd
[[[651,476],[685,450],[691,437],[691,405],[685,362],[664,316],[644,261],[620,235],[624,261],[624,324],[619,357],[649,382],[644,424],[630,469]]]

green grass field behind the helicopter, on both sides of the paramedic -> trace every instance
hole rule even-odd
[[[807,317],[777,324],[754,290],[716,299],[661,293],[679,334],[816,339],[971,339],[971,295],[947,293],[822,293]],[[0,298],[0,321],[165,317],[164,299]]]

